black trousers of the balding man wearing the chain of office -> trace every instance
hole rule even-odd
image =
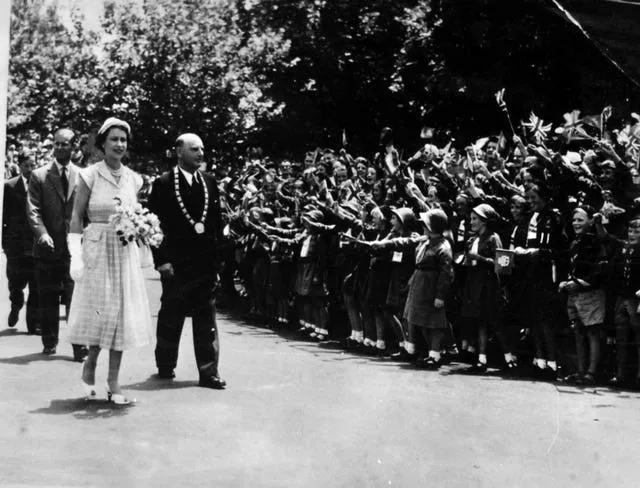
[[[180,336],[186,317],[193,323],[193,347],[200,376],[217,376],[220,356],[216,325],[215,274],[176,272],[162,279],[162,303],[156,330],[156,365],[172,370],[178,362]]]

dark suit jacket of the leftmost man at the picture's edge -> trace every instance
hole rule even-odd
[[[33,232],[27,220],[27,188],[22,176],[4,183],[2,249],[7,257],[33,255]]]

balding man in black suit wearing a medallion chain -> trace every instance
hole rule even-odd
[[[212,176],[199,171],[204,146],[197,135],[178,137],[176,153],[178,165],[154,181],[148,202],[164,232],[162,245],[153,253],[162,281],[156,365],[161,378],[175,376],[182,326],[190,316],[199,385],[223,389],[214,297],[222,242],[218,187]]]

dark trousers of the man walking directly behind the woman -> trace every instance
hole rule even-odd
[[[60,331],[60,298],[68,311],[73,294],[69,259],[36,258],[35,264],[42,344],[44,347],[55,347]]]

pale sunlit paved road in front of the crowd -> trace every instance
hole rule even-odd
[[[150,275],[157,311],[159,282]],[[0,283],[0,320],[8,312]],[[416,371],[221,314],[226,391],[198,388],[190,324],[173,383],[125,353],[133,407],[80,400],[63,344],[0,326],[1,486],[629,486],[640,395]],[[106,377],[106,357],[98,374]]]

